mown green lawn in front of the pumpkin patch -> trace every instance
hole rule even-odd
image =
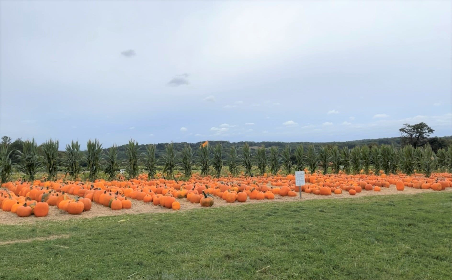
[[[0,226],[53,234],[0,246],[0,279],[452,279],[450,192]]]

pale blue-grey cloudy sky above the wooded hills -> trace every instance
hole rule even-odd
[[[452,135],[451,1],[1,1],[0,134]]]

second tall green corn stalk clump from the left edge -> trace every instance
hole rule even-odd
[[[17,151],[19,155],[19,170],[25,173],[25,177],[28,180],[33,181],[34,176],[41,167],[41,158],[38,155],[38,145],[34,141],[34,138],[24,141],[23,152]]]

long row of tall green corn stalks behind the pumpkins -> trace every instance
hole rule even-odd
[[[38,172],[43,172],[47,174],[47,178],[55,180],[60,171],[77,180],[82,172],[82,160],[86,163],[84,172],[89,174],[91,181],[100,175],[113,180],[118,177],[121,166],[125,167],[129,179],[137,177],[141,171],[146,171],[149,178],[154,178],[159,168],[160,161],[156,158],[155,145],[147,145],[146,151],[139,155],[139,145],[134,140],[130,140],[125,146],[127,160],[122,163],[118,161],[118,146],[113,145],[104,152],[97,139],[87,142],[83,156],[78,141],[71,141],[71,144],[66,145],[62,157],[63,152],[58,151],[58,144],[58,141],[48,140],[38,146],[34,139],[24,141],[23,152],[18,153],[17,165],[11,164],[13,151],[7,144],[2,144],[0,179],[2,182],[6,181],[13,170],[17,170],[26,180],[34,180]],[[213,149],[209,145],[200,145],[195,155],[190,145],[185,145],[182,151],[178,152],[171,143],[165,146],[165,154],[160,156],[160,159],[163,173],[170,178],[174,177],[175,171],[182,171],[185,177],[191,177],[195,168],[202,176],[221,177],[224,165],[227,165],[229,173],[234,177],[240,175],[240,172],[246,176],[253,176],[254,172],[260,175],[267,172],[277,175],[291,174],[294,169],[305,168],[311,173],[320,170],[324,175],[423,173],[428,177],[433,172],[452,172],[452,145],[438,149],[436,153],[429,145],[417,148],[405,145],[401,149],[393,145],[355,146],[352,149],[346,146],[339,149],[335,145],[309,145],[306,151],[302,145],[298,145],[294,150],[287,145],[280,152],[277,146],[251,149],[248,143],[245,143],[240,155],[233,146],[225,156],[221,144],[215,145]]]

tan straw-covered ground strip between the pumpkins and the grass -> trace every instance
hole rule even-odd
[[[447,188],[442,192],[450,192],[452,188]],[[331,195],[331,196],[320,196],[315,194],[308,194],[303,192],[301,194],[302,198],[298,196],[289,197],[289,196],[276,196],[274,200],[250,200],[248,199],[245,203],[235,202],[235,203],[227,203],[226,201],[215,197],[214,205],[212,207],[224,207],[224,206],[237,206],[249,203],[269,203],[269,202],[288,202],[288,201],[307,201],[307,200],[316,200],[316,199],[343,199],[343,198],[352,198],[359,199],[363,196],[385,196],[385,195],[410,195],[417,193],[429,193],[434,192],[432,189],[424,190],[424,189],[414,189],[414,188],[406,188],[404,191],[397,191],[394,185],[391,185],[389,188],[382,187],[381,191],[365,191],[363,190],[360,193],[357,193],[355,196],[351,196],[348,192],[344,192],[340,195]],[[201,208],[199,204],[192,204],[186,199],[178,199],[180,202],[181,211],[191,210],[195,208]],[[54,220],[70,220],[70,219],[87,219],[93,217],[101,217],[101,216],[115,216],[122,214],[141,214],[141,213],[168,213],[174,212],[173,210],[163,208],[161,206],[155,206],[151,203],[144,203],[143,201],[132,200],[132,209],[122,209],[122,210],[111,210],[108,207],[103,205],[99,205],[97,203],[93,203],[91,210],[88,212],[83,212],[80,215],[70,215],[67,212],[58,209],[57,207],[50,207],[49,214],[46,217],[37,218],[33,215],[30,217],[20,218],[17,215],[11,212],[4,212],[0,210],[0,224],[32,224],[36,222],[42,221],[54,221]]]

